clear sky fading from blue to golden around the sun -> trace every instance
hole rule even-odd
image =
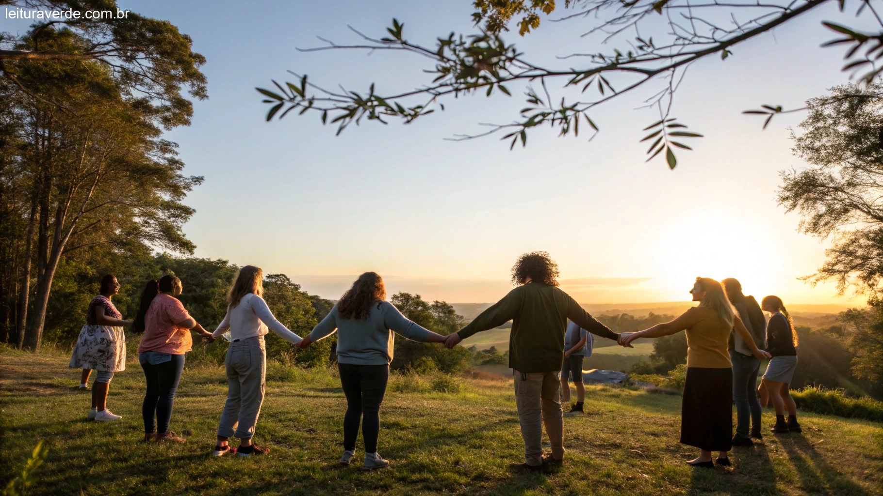
[[[410,125],[371,122],[339,137],[318,115],[264,121],[254,87],[292,79],[286,70],[358,91],[376,81],[380,93],[428,82],[421,70],[431,61],[417,56],[295,48],[321,46],[316,36],[358,41],[347,25],[381,36],[393,17],[407,39],[432,45],[451,30],[472,32],[469,0],[119,4],[168,19],[208,59],[209,100],[195,104],[192,126],[168,136],[186,174],[206,177],[187,199],[197,212],[185,232],[198,256],[283,272],[334,299],[374,270],[390,292],[493,301],[511,287],[518,255],[546,250],[563,288],[584,303],[688,300],[697,276],[739,278],[746,293],[778,294],[786,304],[861,303],[838,298],[833,285],[797,280],[823,262],[827,246],[797,233],[799,217],[774,200],[779,171],[805,167],[788,130],[803,115],[761,130],[758,117],[741,114],[764,103],[800,107],[848,81],[841,48],[819,48],[833,36],[819,21],[844,15],[834,5],[737,46],[726,61],[691,68],[674,116],[706,137],[669,171],[661,160],[645,163],[638,144],[655,116],[636,109],[650,87],[594,113],[601,132],[591,143],[537,130],[511,152],[495,137],[443,138],[517,117],[522,85],[509,85],[512,98],[467,96]],[[0,23],[13,31],[27,24]],[[579,37],[584,29],[544,21],[524,39],[505,38],[527,58],[555,64],[555,56],[598,51],[597,41]]]

